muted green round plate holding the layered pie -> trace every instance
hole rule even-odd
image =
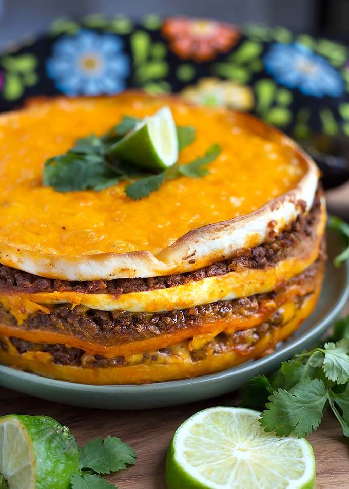
[[[328,262],[323,290],[314,313],[276,351],[260,360],[246,362],[194,379],[147,385],[85,385],[46,379],[0,365],[0,385],[31,396],[74,406],[102,409],[146,409],[208,399],[238,389],[254,375],[268,373],[280,362],[311,347],[332,325],[349,297],[349,262],[339,269],[332,260],[341,251],[338,235],[329,234]]]

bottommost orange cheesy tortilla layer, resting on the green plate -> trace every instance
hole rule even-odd
[[[22,355],[7,341],[8,350],[0,348],[0,361],[15,368],[32,371],[44,377],[79,382],[83,384],[144,384],[163,382],[187,377],[196,377],[234,367],[250,359],[256,359],[270,353],[274,346],[290,336],[312,313],[320,287],[309,296],[302,306],[284,324],[268,332],[246,351],[231,349],[219,354],[209,354],[203,360],[190,358],[188,346],[179,344],[175,354],[161,354],[159,361],[143,364],[85,368],[58,365],[52,361],[49,353],[41,351],[26,352]],[[1,338],[6,342],[6,338]]]

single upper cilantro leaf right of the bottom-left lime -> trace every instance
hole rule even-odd
[[[110,474],[110,472],[121,471],[126,464],[134,465],[136,454],[120,438],[107,436],[103,440],[96,438],[89,441],[80,452],[80,469],[92,469],[98,474]]]

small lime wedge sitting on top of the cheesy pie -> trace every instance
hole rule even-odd
[[[150,171],[167,168],[178,160],[178,137],[172,112],[165,106],[137,124],[115,143],[110,154]]]

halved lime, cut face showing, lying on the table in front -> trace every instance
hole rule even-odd
[[[176,431],[166,460],[167,489],[311,489],[312,446],[303,438],[278,438],[259,425],[251,409],[200,411]]]

